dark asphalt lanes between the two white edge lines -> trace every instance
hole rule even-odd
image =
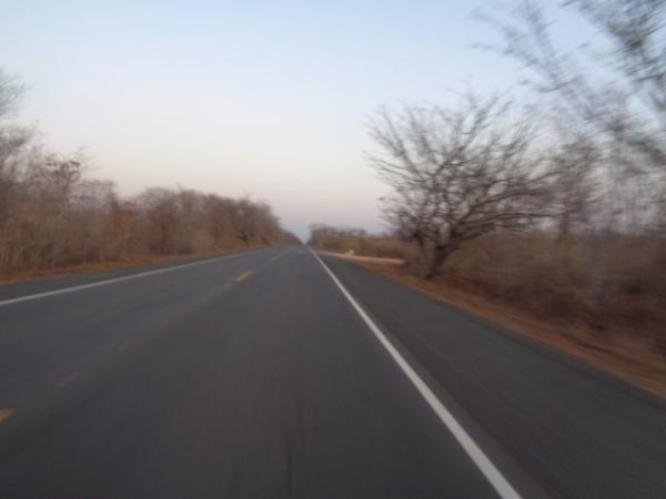
[[[496,498],[304,246],[0,305],[2,498]]]

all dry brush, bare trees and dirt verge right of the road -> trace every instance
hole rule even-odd
[[[402,257],[365,264],[666,394],[666,2],[563,4],[597,29],[592,60],[554,43],[542,4],[482,16],[525,71],[521,105],[381,110],[369,159],[392,237],[311,242]]]

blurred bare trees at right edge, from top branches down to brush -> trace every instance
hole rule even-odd
[[[589,42],[575,50],[555,42],[545,4],[517,0],[508,17],[484,18],[502,35],[500,51],[522,64],[529,88],[554,111],[561,235],[586,218],[599,251],[618,232],[663,241],[666,0],[562,3],[592,28]],[[591,272],[605,289],[612,268],[604,265],[597,258]]]

